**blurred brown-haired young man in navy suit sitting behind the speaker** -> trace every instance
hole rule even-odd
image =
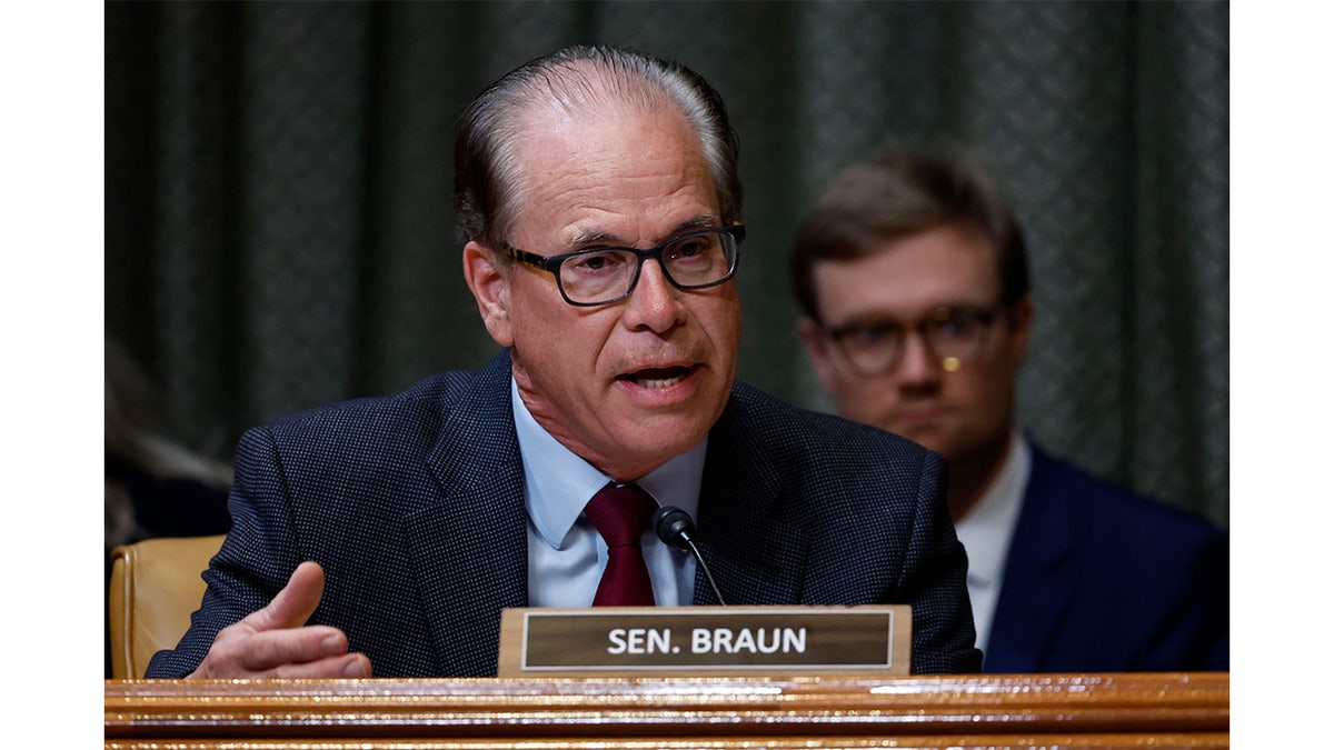
[[[1017,431],[1034,307],[1021,230],[984,175],[898,149],[854,164],[791,264],[839,414],[950,462],[983,671],[1227,669],[1226,536]]]

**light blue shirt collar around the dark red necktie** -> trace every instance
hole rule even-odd
[[[514,426],[523,456],[524,504],[528,518],[543,542],[563,548],[588,499],[611,478],[594,468],[551,436],[528,411],[519,396],[519,384],[510,378],[510,400]],[[699,508],[699,486],[704,476],[708,436],[694,448],[668,459],[635,483],[658,500],[659,506],[676,506],[691,518]]]

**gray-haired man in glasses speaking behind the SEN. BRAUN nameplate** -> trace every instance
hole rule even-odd
[[[562,49],[479,95],[455,153],[503,351],[249,431],[201,610],[149,677],[494,675],[503,609],[604,601],[594,510],[630,483],[698,516],[728,605],[910,603],[914,671],[980,666],[940,456],[735,379],[736,143],[707,83]],[[635,535],[650,602],[716,603]]]

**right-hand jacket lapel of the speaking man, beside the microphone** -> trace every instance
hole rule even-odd
[[[699,547],[728,605],[802,603],[810,543],[778,518],[782,471],[747,428],[747,404],[736,388],[710,431],[699,496]],[[695,574],[696,605],[716,605],[703,570]]]

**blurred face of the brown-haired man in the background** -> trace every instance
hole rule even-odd
[[[920,334],[906,336],[896,367],[874,375],[858,372],[811,320],[802,322],[802,340],[820,383],[848,419],[910,438],[954,466],[987,460],[979,456],[994,456],[1009,440],[1031,307],[1025,299],[1013,310],[999,308],[995,254],[980,232],[943,226],[887,243],[867,258],[820,262],[815,292],[824,331],[912,323],[939,307],[996,311],[976,354],[954,371],[930,355]]]

